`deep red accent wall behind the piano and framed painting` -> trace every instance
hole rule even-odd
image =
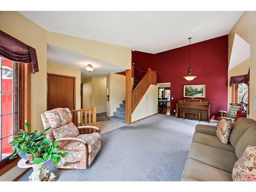
[[[170,82],[171,97],[174,97],[170,102],[172,115],[175,115],[177,100],[183,98],[183,84],[206,84],[210,116],[227,109],[228,35],[191,45],[191,73],[198,77],[190,82],[183,78],[187,76],[189,64],[188,46],[158,54],[134,51],[132,62],[140,69],[156,70],[158,83]]]

